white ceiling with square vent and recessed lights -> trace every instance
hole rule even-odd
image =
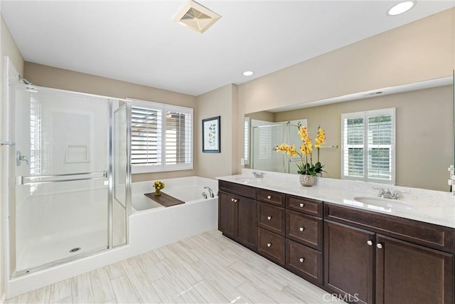
[[[198,2],[222,16],[202,34],[172,21],[185,0],[2,0],[1,14],[26,61],[200,95],[455,4],[418,1],[391,17],[386,12],[397,1]]]

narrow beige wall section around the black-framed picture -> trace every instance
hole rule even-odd
[[[237,85],[225,85],[222,88],[199,95],[196,112],[196,167],[200,177],[215,178],[231,175],[237,169],[232,162],[237,159]],[[220,116],[221,152],[202,152],[202,120]],[[242,117],[243,119],[243,117]]]

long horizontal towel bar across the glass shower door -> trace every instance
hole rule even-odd
[[[109,174],[107,171],[101,172],[82,172],[53,175],[36,175],[34,177],[16,177],[16,184],[49,184],[53,182],[75,182],[88,179],[105,179]]]

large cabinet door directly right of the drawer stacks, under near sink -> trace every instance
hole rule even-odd
[[[324,222],[324,285],[348,302],[374,303],[375,234]]]

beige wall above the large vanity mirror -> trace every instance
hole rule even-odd
[[[250,112],[452,75],[454,17],[455,9],[443,11],[243,83],[238,88],[237,115],[243,117]],[[360,109],[360,103],[358,107]],[[356,109],[354,107],[353,111]],[[336,128],[336,121],[331,122],[333,127],[326,122],[326,127]],[[425,135],[430,142],[432,138],[429,134],[422,134],[422,137]],[[237,136],[241,142],[243,131],[239,130]],[[453,151],[453,147],[448,149]],[[242,153],[243,147],[239,145],[238,154]],[[238,159],[235,162],[238,163]],[[239,166],[237,171],[240,169]],[[417,172],[426,173],[418,169]]]

